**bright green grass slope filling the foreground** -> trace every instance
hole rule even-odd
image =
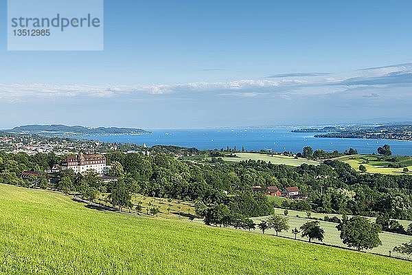
[[[0,184],[0,274],[412,274],[411,263]]]

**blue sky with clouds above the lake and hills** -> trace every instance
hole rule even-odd
[[[412,121],[411,10],[106,0],[104,50],[14,52],[0,0],[0,129]]]

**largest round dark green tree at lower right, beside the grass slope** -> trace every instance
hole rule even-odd
[[[345,245],[350,248],[363,249],[377,248],[382,245],[379,239],[379,233],[382,232],[380,225],[371,223],[365,217],[352,217],[350,220],[343,219],[336,226],[341,231],[341,239]]]

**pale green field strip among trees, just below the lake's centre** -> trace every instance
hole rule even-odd
[[[309,159],[295,159],[284,155],[266,155],[260,153],[236,153],[237,157],[223,157],[225,162],[241,162],[242,160],[263,160],[264,162],[271,162],[271,164],[286,164],[290,166],[301,166],[301,164],[319,165],[319,162]]]

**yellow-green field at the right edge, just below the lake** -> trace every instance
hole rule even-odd
[[[389,168],[389,162],[380,161],[378,155],[347,155],[344,157],[336,157],[336,160],[350,164],[352,168],[359,171],[359,166],[362,164],[366,167],[367,173],[380,173],[387,175],[412,175],[412,158],[400,157],[400,164],[406,166],[410,172],[404,173],[403,168]]]

